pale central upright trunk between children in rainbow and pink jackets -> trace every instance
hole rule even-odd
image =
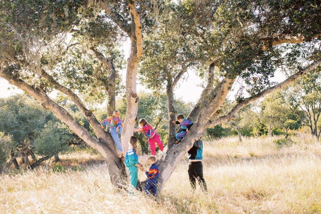
[[[139,60],[136,57],[137,44],[136,41],[131,39],[130,55],[127,59],[127,72],[126,72],[126,117],[124,127],[121,134],[121,141],[124,154],[128,150],[129,138],[133,136],[134,126],[137,118],[138,110],[138,96],[136,94],[136,75]]]

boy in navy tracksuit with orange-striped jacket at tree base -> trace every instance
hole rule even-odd
[[[160,174],[160,171],[158,169],[158,166],[155,164],[156,157],[150,156],[148,158],[148,163],[151,165],[149,167],[148,172],[146,171],[147,175],[147,181],[144,187],[144,191],[149,194],[152,192],[152,195],[155,196],[157,192],[157,184],[158,184],[158,177]]]

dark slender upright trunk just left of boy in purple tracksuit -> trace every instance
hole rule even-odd
[[[170,149],[174,145],[175,141],[175,127],[176,125],[172,123],[172,121],[176,121],[176,112],[174,107],[174,92],[172,87],[172,79],[168,80],[166,86],[166,94],[167,94],[167,110],[168,110],[168,149]]]

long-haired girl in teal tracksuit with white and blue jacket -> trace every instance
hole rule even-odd
[[[129,194],[133,193],[133,189],[137,187],[137,174],[138,169],[137,167],[144,171],[143,165],[138,162],[138,154],[137,154],[137,146],[138,140],[136,137],[132,136],[129,140],[129,149],[125,156],[125,166],[127,166],[129,171]]]

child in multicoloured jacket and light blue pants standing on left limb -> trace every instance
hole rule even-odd
[[[109,133],[111,137],[113,138],[117,148],[119,151],[121,151],[120,157],[123,157],[123,147],[121,146],[119,136],[123,130],[123,121],[119,118],[120,112],[118,110],[115,110],[113,112],[113,115],[106,118],[100,123],[101,129],[104,129],[104,125],[109,126]]]

